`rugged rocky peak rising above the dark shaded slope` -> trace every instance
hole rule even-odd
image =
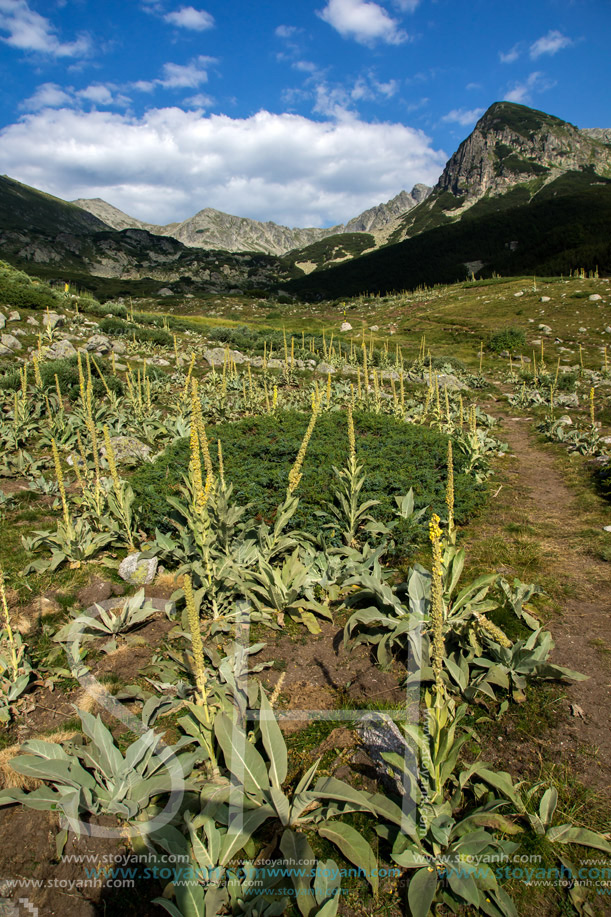
[[[478,121],[446,165],[434,191],[471,202],[504,194],[534,178],[592,169],[611,174],[611,150],[597,136],[545,112],[497,102]]]

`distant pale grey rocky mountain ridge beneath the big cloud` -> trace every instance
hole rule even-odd
[[[234,216],[206,207],[182,223],[169,223],[158,226],[144,223],[130,217],[112,204],[100,198],[79,199],[73,201],[77,207],[103,220],[113,229],[146,229],[159,236],[171,236],[189,248],[205,248],[231,252],[264,252],[271,255],[282,255],[293,249],[305,246],[341,233],[374,232],[392,223],[400,214],[416,207],[424,200],[431,189],[426,185],[415,185],[411,193],[401,191],[386,204],[371,207],[359,216],[351,219],[346,225],[329,226],[325,229],[315,227],[290,229],[271,221],[260,222],[247,217]]]

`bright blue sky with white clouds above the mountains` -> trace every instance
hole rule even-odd
[[[151,222],[332,225],[494,101],[611,127],[609,0],[0,0],[0,172]]]

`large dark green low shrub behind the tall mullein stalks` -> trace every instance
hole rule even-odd
[[[308,419],[306,414],[286,411],[208,428],[213,454],[216,439],[221,441],[225,478],[233,484],[233,499],[241,505],[252,503],[258,518],[271,520],[283,500]],[[416,507],[430,505],[431,511],[444,517],[448,437],[385,415],[357,412],[354,421],[358,459],[366,474],[361,500],[380,501],[372,511],[374,517],[382,522],[393,519],[394,497],[403,496],[410,487]],[[321,520],[314,511],[324,509],[325,501],[332,499],[335,477],[331,466],[345,465],[347,449],[345,415],[323,414],[310,440],[297,491],[300,502],[294,522],[305,531],[320,531]],[[462,524],[483,504],[485,488],[464,473],[465,460],[458,449],[454,455],[455,515]],[[189,442],[183,439],[130,479],[151,533],[155,527],[172,530],[171,508],[165,498],[177,493],[188,465]],[[413,534],[404,523],[394,530],[399,551],[408,549]],[[425,524],[419,534],[421,540],[426,539]]]

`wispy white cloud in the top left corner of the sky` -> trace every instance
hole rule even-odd
[[[26,0],[0,0],[0,31],[8,32],[8,37],[2,37],[7,45],[52,57],[81,57],[91,47],[86,35],[73,42],[60,41],[49,20],[31,10]]]

